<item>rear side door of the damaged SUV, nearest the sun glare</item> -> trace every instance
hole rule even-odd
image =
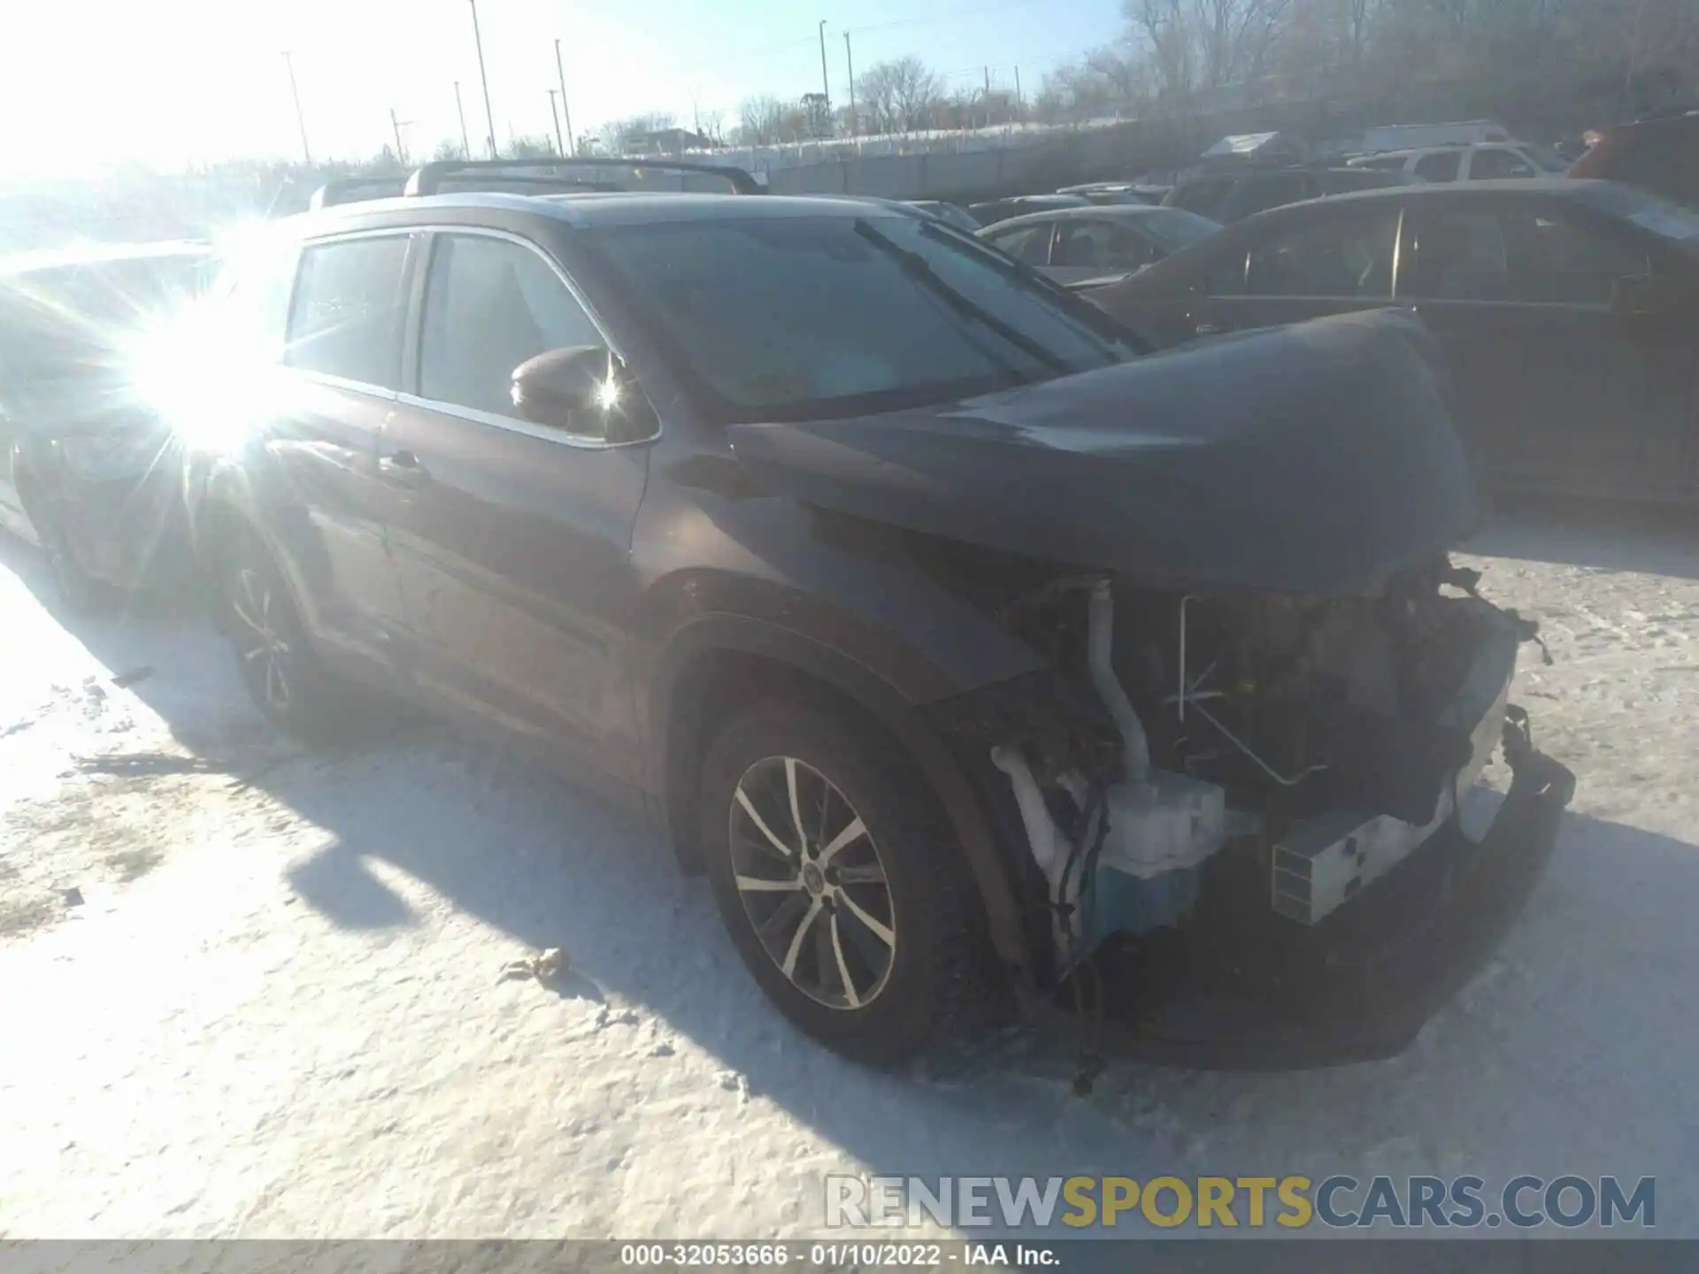
[[[406,231],[379,231],[301,250],[284,353],[292,374],[253,493],[314,637],[384,666],[403,615],[377,445],[396,408],[411,246]]]

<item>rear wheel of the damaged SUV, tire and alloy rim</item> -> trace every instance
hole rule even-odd
[[[347,732],[343,686],[308,640],[294,595],[270,550],[243,528],[219,562],[219,627],[255,707],[279,730],[311,747]]]

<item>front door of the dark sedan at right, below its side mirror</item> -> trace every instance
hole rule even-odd
[[[1668,499],[1685,493],[1691,338],[1612,311],[1648,243],[1573,200],[1422,209],[1403,282],[1444,347],[1465,431],[1505,486]]]

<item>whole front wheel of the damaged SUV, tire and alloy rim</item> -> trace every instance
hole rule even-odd
[[[703,759],[698,831],[737,953],[807,1034],[892,1065],[970,1023],[972,877],[877,736],[812,707],[749,710]]]

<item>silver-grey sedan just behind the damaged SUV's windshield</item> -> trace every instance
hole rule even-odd
[[[1111,204],[1028,212],[979,233],[1058,284],[1143,270],[1220,226],[1177,207]]]

